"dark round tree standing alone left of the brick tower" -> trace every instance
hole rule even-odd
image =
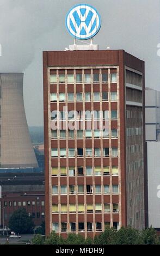
[[[33,232],[34,223],[32,218],[28,216],[26,209],[20,208],[14,211],[9,220],[9,228],[11,231],[19,234],[29,234]]]

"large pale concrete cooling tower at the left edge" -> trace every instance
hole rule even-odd
[[[38,167],[23,102],[23,74],[0,74],[1,168]]]

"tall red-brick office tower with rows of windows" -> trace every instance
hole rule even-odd
[[[46,234],[145,227],[144,96],[125,51],[44,52]]]

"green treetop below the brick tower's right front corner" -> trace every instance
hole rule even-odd
[[[139,231],[131,227],[122,227],[117,232],[116,242],[118,245],[137,245],[139,243]]]

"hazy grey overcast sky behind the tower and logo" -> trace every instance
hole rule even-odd
[[[146,87],[159,89],[160,0],[0,0],[0,72],[24,72],[24,104],[29,126],[43,125],[42,51],[73,44],[65,16],[74,4],[99,11],[94,43],[145,60]]]

